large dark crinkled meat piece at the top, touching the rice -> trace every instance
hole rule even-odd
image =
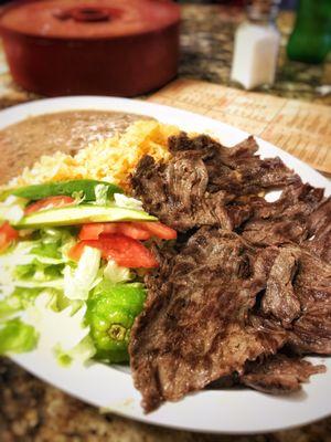
[[[300,182],[280,159],[254,155],[253,137],[226,148],[207,136],[181,134],[169,139],[169,162],[143,157],[131,183],[145,209],[179,231],[202,225],[234,230],[253,214],[252,193]]]

